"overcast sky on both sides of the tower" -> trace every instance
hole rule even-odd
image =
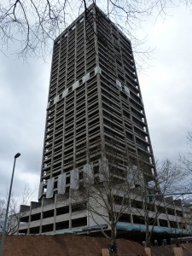
[[[192,129],[192,14],[172,9],[166,20],[144,24],[146,46],[154,48],[145,74],[139,75],[154,155],[177,160],[186,151]],[[13,190],[26,183],[38,188],[49,89],[49,63],[0,56],[0,196],[9,188],[14,156]]]

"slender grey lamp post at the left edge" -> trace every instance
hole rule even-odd
[[[17,159],[19,156],[20,156],[20,153],[15,154],[14,167],[13,167],[13,172],[12,172],[12,177],[11,177],[11,183],[10,183],[10,188],[9,188],[8,204],[7,204],[7,209],[6,209],[5,219],[4,219],[4,225],[3,225],[2,241],[1,241],[1,246],[0,246],[0,256],[3,255],[3,245],[4,245],[5,234],[6,234],[7,222],[8,222],[8,213],[9,213],[10,196],[11,196],[12,184],[13,184],[13,180],[14,180],[15,162],[16,162],[16,159]]]

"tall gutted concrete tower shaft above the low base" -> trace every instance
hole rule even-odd
[[[120,154],[154,177],[154,156],[131,42],[94,6],[55,39],[49,84],[42,193],[54,177],[106,157],[113,138]],[[120,156],[117,156],[117,162]],[[120,163],[119,163],[120,165]],[[96,168],[96,166],[95,166]]]

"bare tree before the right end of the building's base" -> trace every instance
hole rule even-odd
[[[138,194],[138,200],[143,202],[143,206],[135,208],[135,211],[145,224],[147,247],[151,245],[154,226],[157,225],[160,214],[166,214],[166,218],[168,218],[167,212],[172,211],[172,205],[175,200],[166,201],[165,194],[172,194],[176,191],[181,193],[189,191],[189,188],[184,184],[184,178],[187,173],[184,172],[181,166],[173,164],[170,160],[162,160],[156,164],[156,167],[157,176],[154,177],[154,180],[148,181],[144,177],[145,168],[143,165],[139,166],[139,172],[141,172],[143,178],[140,181],[140,186],[135,191]]]

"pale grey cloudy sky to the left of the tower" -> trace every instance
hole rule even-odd
[[[30,61],[30,66],[2,58],[0,65],[0,196],[9,187],[14,155],[14,189],[22,193],[30,178],[39,179],[44,143],[49,65]],[[22,180],[22,177],[26,179]],[[38,184],[37,184],[38,185]],[[22,189],[21,189],[22,188]]]

